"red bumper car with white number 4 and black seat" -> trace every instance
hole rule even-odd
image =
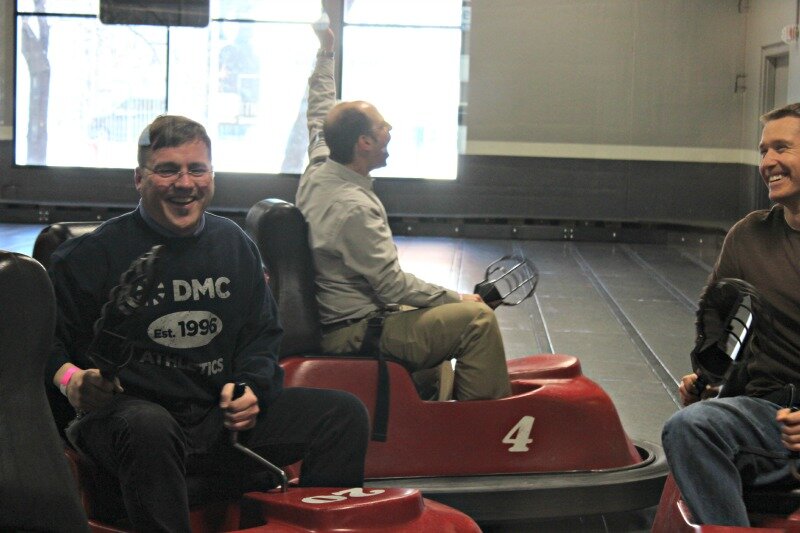
[[[479,523],[629,511],[658,502],[667,466],[659,445],[631,440],[610,398],[570,355],[509,362],[513,395],[429,402],[404,367],[324,356],[305,221],[292,204],[263,200],[247,216],[278,301],[288,386],[352,392],[386,424],[370,443],[370,486],[415,487]],[[386,402],[388,393],[389,401]],[[388,403],[381,412],[381,402]],[[376,409],[376,405],[377,407]]]

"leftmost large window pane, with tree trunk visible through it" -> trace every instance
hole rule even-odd
[[[18,25],[17,163],[135,164],[139,133],[166,109],[166,28],[38,16]],[[45,112],[46,127],[31,128]]]

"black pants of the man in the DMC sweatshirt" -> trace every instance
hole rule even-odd
[[[189,453],[183,430],[166,409],[125,394],[71,425],[68,435],[81,453],[119,479],[136,531],[190,531],[187,474],[244,475],[259,468],[224,444],[224,431],[210,452]],[[302,459],[303,486],[356,487],[364,481],[368,435],[367,411],[355,396],[287,388],[240,441],[279,466]]]

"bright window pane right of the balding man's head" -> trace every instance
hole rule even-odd
[[[343,42],[342,98],[372,103],[392,125],[387,165],[372,174],[455,178],[460,30],[346,26]]]

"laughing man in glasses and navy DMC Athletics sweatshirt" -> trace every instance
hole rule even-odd
[[[205,128],[158,117],[139,139],[134,181],[137,209],[53,254],[58,320],[46,369],[82,413],[67,436],[119,480],[133,529],[189,532],[187,474],[235,480],[258,467],[231,447],[230,431],[278,465],[302,459],[301,485],[360,486],[366,409],[344,392],[283,388],[282,330],[258,250],[206,212],[214,171]],[[87,354],[93,325],[120,275],[156,245],[155,290],[130,319],[130,360],[110,381]],[[233,398],[236,383],[244,393]]]

